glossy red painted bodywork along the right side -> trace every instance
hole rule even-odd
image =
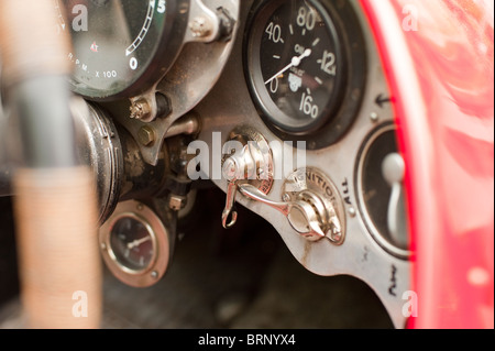
[[[407,165],[418,296],[409,327],[494,328],[493,1],[361,4]]]

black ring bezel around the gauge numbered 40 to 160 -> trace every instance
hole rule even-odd
[[[306,147],[308,150],[319,150],[338,142],[349,131],[358,116],[367,75],[367,51],[361,24],[349,1],[341,1],[339,3],[331,0],[307,1],[320,11],[327,26],[334,29],[336,43],[340,44],[340,62],[345,66],[343,67],[344,76],[340,85],[342,91],[334,96],[341,102],[339,103],[339,101],[334,100],[329,101],[329,103],[333,102],[334,106],[326,107],[328,116],[320,116],[319,123],[299,130],[287,128],[280,121],[277,121],[276,117],[266,109],[263,97],[260,97],[260,90],[263,91],[266,89],[257,89],[263,77],[261,70],[256,72],[253,69],[255,68],[255,61],[260,61],[257,57],[260,53],[258,44],[262,39],[254,39],[253,35],[260,33],[260,30],[257,30],[258,26],[264,25],[264,22],[258,20],[260,15],[270,18],[273,13],[261,14],[261,12],[266,9],[276,10],[284,0],[258,0],[251,8],[244,30],[243,66],[251,98],[260,117],[268,129],[284,141],[306,141]]]

